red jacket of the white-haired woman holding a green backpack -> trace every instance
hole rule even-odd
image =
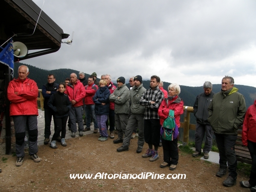
[[[168,106],[166,103],[168,101]],[[180,97],[175,96],[172,100],[163,99],[158,109],[158,115],[160,117],[160,124],[163,125],[164,120],[168,117],[170,109],[174,111],[175,123],[180,128],[180,115],[183,114],[184,102]]]

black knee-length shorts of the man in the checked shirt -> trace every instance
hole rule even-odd
[[[144,138],[145,142],[158,146],[160,143],[160,120],[144,119]]]

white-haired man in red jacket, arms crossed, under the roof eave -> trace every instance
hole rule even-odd
[[[26,137],[26,125],[29,132],[29,155],[36,163],[41,161],[38,157],[38,86],[35,81],[27,78],[29,68],[21,65],[18,69],[18,79],[10,81],[7,88],[7,96],[10,105],[10,116],[13,118],[16,138],[16,166],[21,166],[24,153],[24,139]]]

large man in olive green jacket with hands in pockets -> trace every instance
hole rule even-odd
[[[229,176],[223,181],[224,186],[236,184],[236,153],[235,143],[238,128],[243,124],[246,112],[244,96],[234,87],[234,79],[225,76],[222,79],[221,92],[213,96],[209,105],[208,121],[215,134],[220,155],[220,168],[216,176],[223,177],[227,171]]]

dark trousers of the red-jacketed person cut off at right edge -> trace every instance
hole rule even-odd
[[[250,156],[253,160],[249,183],[251,186],[256,186],[256,143],[249,140],[247,140],[247,142]]]

